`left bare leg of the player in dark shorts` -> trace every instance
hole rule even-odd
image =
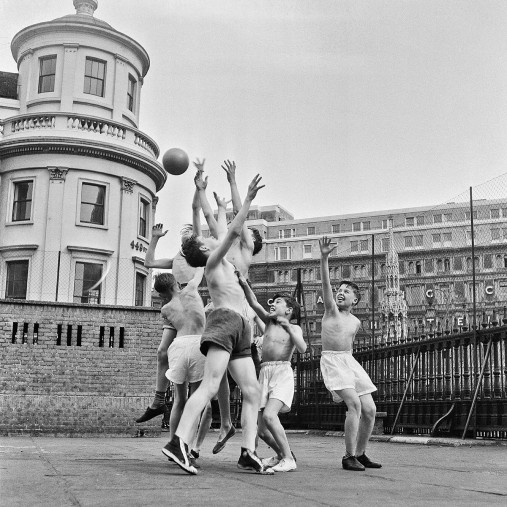
[[[194,436],[194,424],[199,420],[208,402],[218,392],[229,359],[230,355],[225,349],[214,345],[210,346],[204,366],[204,378],[201,385],[187,400],[178,429],[175,432],[176,436],[187,445],[191,443]]]

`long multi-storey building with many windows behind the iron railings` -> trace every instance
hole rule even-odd
[[[277,216],[277,208],[272,207],[269,221],[254,215],[247,222],[264,237],[250,279],[266,304],[276,292],[296,291],[299,276],[306,330],[317,341],[324,311],[319,249],[324,235],[337,245],[329,258],[333,288],[348,279],[361,289],[354,313],[365,340],[372,327],[381,336],[387,326],[386,289],[393,291],[388,276],[394,269],[389,254],[391,264],[392,259],[398,263],[396,298],[403,299],[407,328],[443,329],[471,319],[474,292],[478,318],[483,311],[502,313],[507,305],[507,199],[305,219],[289,212]]]

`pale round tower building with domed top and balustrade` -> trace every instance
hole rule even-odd
[[[149,305],[143,252],[166,181],[138,129],[149,57],[96,0],[74,6],[18,32],[19,74],[2,73],[0,298]]]

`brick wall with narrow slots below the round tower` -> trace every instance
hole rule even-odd
[[[0,434],[135,434],[161,333],[151,308],[0,300]]]

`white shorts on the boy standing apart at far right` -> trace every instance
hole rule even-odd
[[[336,391],[342,389],[355,389],[358,396],[364,396],[377,390],[364,368],[354,359],[350,350],[323,350],[320,358],[320,369],[324,384],[333,395],[335,403],[343,401],[336,394]]]

